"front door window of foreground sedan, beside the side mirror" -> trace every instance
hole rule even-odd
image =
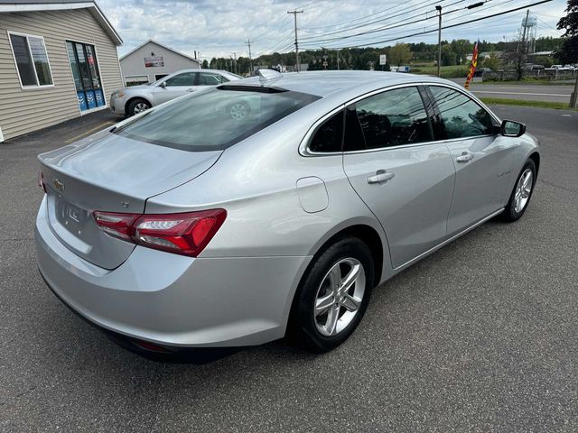
[[[442,134],[438,139],[466,138],[493,134],[491,115],[470,97],[452,88],[430,87],[437,104]]]

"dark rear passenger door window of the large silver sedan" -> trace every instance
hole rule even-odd
[[[348,109],[346,128],[364,140],[351,140],[346,132],[346,150],[381,149],[432,141],[431,127],[424,102],[415,87],[396,88],[368,97]],[[356,122],[357,121],[357,122]]]

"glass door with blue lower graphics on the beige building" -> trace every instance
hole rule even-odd
[[[80,111],[106,106],[94,46],[73,41],[67,41],[66,46]]]

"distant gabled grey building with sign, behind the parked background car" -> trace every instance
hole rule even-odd
[[[149,39],[120,58],[126,86],[148,83],[180,69],[200,69],[200,60]]]

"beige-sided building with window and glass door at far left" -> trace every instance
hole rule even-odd
[[[93,1],[0,0],[0,142],[106,108],[121,43]]]

